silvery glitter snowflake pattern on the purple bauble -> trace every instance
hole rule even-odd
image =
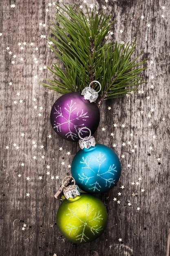
[[[54,124],[54,129],[57,128],[57,132],[62,132],[62,127],[64,126],[68,126],[68,132],[65,134],[65,136],[67,138],[71,137],[71,139],[75,140],[77,139],[77,133],[79,131],[79,128],[85,127],[85,124],[75,124],[74,121],[76,120],[80,120],[80,121],[86,121],[86,119],[89,117],[87,115],[87,112],[84,113],[84,110],[82,110],[82,112],[80,113],[79,111],[77,111],[77,107],[75,106],[76,102],[73,103],[73,100],[71,100],[70,105],[67,103],[67,108],[65,107],[64,109],[68,112],[68,116],[63,115],[62,109],[60,106],[57,106],[57,108],[55,108],[54,114],[56,115],[56,119],[60,118],[60,122],[56,121],[56,124]],[[76,117],[75,117],[75,112],[76,113]],[[72,117],[73,115],[73,117]],[[75,129],[75,132],[73,132],[73,128]]]

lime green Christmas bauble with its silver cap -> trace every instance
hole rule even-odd
[[[74,180],[74,179],[73,179]],[[57,225],[63,236],[73,243],[88,243],[102,235],[107,225],[107,211],[101,200],[79,187],[64,188],[65,200],[57,211]]]

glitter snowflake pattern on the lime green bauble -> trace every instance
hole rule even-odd
[[[77,216],[77,210],[75,211],[75,208],[73,209],[68,208],[70,211],[69,213],[66,214],[69,219],[74,218],[75,220],[79,221],[79,225],[75,226],[72,224],[66,225],[66,230],[69,232],[69,235],[73,236],[76,234],[78,229],[81,229],[79,234],[76,237],[76,240],[79,241],[80,243],[82,242],[87,242],[90,238],[86,236],[86,229],[90,229],[91,233],[93,235],[98,234],[99,231],[101,231],[103,228],[100,225],[100,221],[103,220],[102,214],[100,214],[100,211],[96,212],[94,208],[92,208],[92,204],[87,203],[86,205],[83,205],[84,207],[84,212],[85,212],[85,218],[79,218]],[[83,211],[83,209],[82,209]],[[90,218],[88,219],[88,217]],[[93,223],[93,225],[91,224]],[[94,225],[95,224],[95,225]]]

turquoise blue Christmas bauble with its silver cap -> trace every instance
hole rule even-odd
[[[71,174],[79,188],[88,193],[103,193],[113,188],[121,175],[117,154],[105,145],[96,144],[91,134],[81,138],[79,145],[81,150],[71,164]]]

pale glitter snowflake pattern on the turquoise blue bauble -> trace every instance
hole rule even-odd
[[[95,183],[89,185],[89,186],[91,186],[91,188],[89,188],[89,189],[93,190],[93,192],[100,191],[100,189],[101,189],[101,186],[98,182],[99,179],[104,180],[106,182],[105,186],[108,186],[108,188],[110,188],[110,186],[112,184],[115,184],[115,180],[113,180],[113,178],[107,178],[106,176],[108,176],[108,174],[113,176],[114,172],[117,172],[117,170],[116,170],[117,167],[115,166],[115,164],[110,165],[107,171],[102,172],[101,166],[102,166],[102,164],[104,165],[104,162],[106,161],[106,157],[105,157],[105,155],[102,155],[101,152],[99,152],[99,154],[95,155],[95,156],[96,156],[96,161],[99,164],[97,171],[94,171],[93,168],[91,168],[91,164],[90,164],[91,158],[88,159],[88,157],[86,157],[86,158],[82,157],[83,161],[80,162],[80,164],[85,165],[82,167],[82,169],[87,168],[87,169],[91,170],[94,173],[94,175],[87,176],[87,175],[85,175],[85,173],[82,173],[82,175],[79,174],[79,180],[82,181],[82,184],[83,184],[83,182],[85,182],[85,185],[87,183],[91,182],[90,181],[91,179],[93,179],[94,177],[97,177],[97,181]]]

